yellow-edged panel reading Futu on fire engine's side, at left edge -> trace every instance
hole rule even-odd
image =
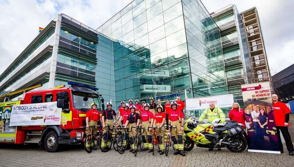
[[[0,141],[14,143],[16,127],[9,126],[11,109],[13,105],[19,105],[20,101],[0,103]]]

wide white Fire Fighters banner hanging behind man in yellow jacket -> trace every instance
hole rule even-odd
[[[187,98],[186,110],[198,110],[209,108],[209,103],[214,103],[216,107],[232,107],[234,102],[233,94],[218,96]]]

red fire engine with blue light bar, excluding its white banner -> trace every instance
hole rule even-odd
[[[57,101],[57,107],[62,108],[60,125],[9,127],[13,129],[9,130],[11,133],[9,135],[7,135],[8,132],[6,133],[4,131],[6,128],[2,128],[2,132],[0,128],[0,143],[38,143],[39,146],[44,147],[48,152],[57,151],[60,144],[83,143],[84,137],[86,136],[86,113],[91,109],[90,104],[95,102],[97,104],[97,110],[102,113],[104,99],[97,92],[98,88],[93,86],[74,82],[69,82],[68,85],[70,85],[69,88],[60,86],[59,88],[48,90],[28,91],[21,101],[4,102],[2,103],[2,107],[0,103],[3,113],[9,113],[9,105],[53,101]],[[3,107],[6,107],[6,111],[4,111]],[[8,116],[3,120],[0,117],[0,122],[8,127]]]

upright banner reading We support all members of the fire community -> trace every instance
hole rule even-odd
[[[280,153],[270,83],[242,85],[249,152]]]

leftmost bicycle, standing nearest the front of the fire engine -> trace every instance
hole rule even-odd
[[[102,126],[100,126],[100,129]],[[93,131],[97,130],[95,126],[89,126],[89,134],[86,136],[84,140],[84,148],[87,153],[91,153],[94,150],[95,147],[95,140],[97,145],[99,146],[99,139],[102,137],[102,131],[97,130],[97,134],[94,134]]]

